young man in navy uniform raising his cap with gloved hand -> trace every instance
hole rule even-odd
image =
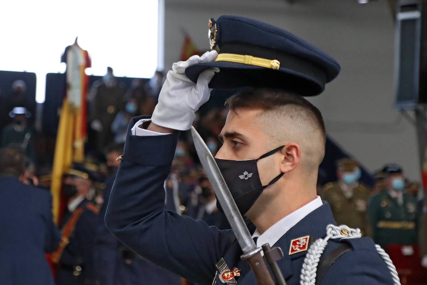
[[[338,74],[339,65],[295,35],[259,21],[221,16],[211,19],[210,27],[211,47],[218,44],[220,53],[175,63],[151,120],[141,116],[130,122],[105,223],[135,252],[197,284],[256,284],[238,243],[230,244],[233,230],[164,210],[163,185],[177,130],[189,129],[194,112],[209,99],[208,82],[212,88],[264,85],[315,95]],[[328,203],[316,196],[325,153],[322,115],[303,97],[271,88],[235,94],[228,108],[216,162],[237,209],[256,226],[257,246],[281,247],[285,255],[278,266],[288,285],[299,284],[310,242],[324,238],[327,225],[335,223]],[[360,236],[351,229],[337,234],[328,237]],[[320,284],[343,278],[349,284],[393,284],[371,239],[346,240],[349,251]],[[341,245],[330,239],[324,254]]]

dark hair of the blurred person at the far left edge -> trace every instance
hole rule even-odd
[[[0,176],[19,177],[25,173],[25,155],[19,148],[0,149]]]

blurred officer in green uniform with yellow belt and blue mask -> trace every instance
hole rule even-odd
[[[417,244],[417,200],[405,193],[403,171],[398,165],[386,165],[386,190],[369,200],[372,237],[381,247],[388,244]]]

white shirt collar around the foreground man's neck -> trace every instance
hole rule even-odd
[[[295,226],[300,220],[302,220],[305,216],[319,208],[323,205],[322,199],[317,196],[316,199],[311,201],[310,203],[305,204],[298,210],[290,213],[283,219],[279,220],[277,223],[269,227],[262,235],[258,229],[255,230],[252,238],[257,237],[257,247],[261,247],[263,244],[270,244],[271,247],[284,235],[286,232]]]

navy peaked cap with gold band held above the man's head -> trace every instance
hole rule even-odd
[[[211,49],[219,48],[218,57],[189,66],[185,74],[196,82],[202,71],[219,68],[210,88],[269,87],[313,96],[340,71],[331,56],[276,26],[231,15],[211,18],[209,26]]]

